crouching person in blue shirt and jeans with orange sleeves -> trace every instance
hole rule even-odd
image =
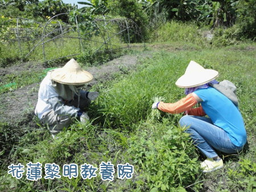
[[[180,126],[187,127],[185,132],[190,133],[193,143],[207,157],[201,162],[204,173],[223,167],[216,150],[236,153],[246,143],[245,125],[232,89],[234,85],[229,81],[218,83],[217,76],[216,70],[204,69],[191,61],[184,75],[176,81],[177,86],[185,88],[187,97],[176,103],[155,102],[152,105],[164,112],[187,114],[180,119]],[[200,107],[192,108],[197,103]]]

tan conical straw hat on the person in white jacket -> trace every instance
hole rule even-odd
[[[86,70],[81,69],[75,59],[71,59],[63,66],[51,73],[53,81],[67,85],[82,85],[92,81],[93,76]]]

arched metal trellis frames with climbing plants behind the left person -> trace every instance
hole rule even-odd
[[[51,61],[90,53],[108,52],[131,48],[134,41],[143,41],[140,28],[127,18],[100,16],[86,23],[75,16],[75,22],[58,19],[62,13],[48,18],[46,23],[27,18],[9,19],[2,22],[3,46],[13,46],[21,58],[37,57]]]

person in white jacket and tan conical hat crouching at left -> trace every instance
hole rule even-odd
[[[92,74],[71,59],[63,68],[49,71],[41,82],[35,114],[47,124],[53,138],[71,125],[73,117],[83,123],[89,120],[84,108],[98,97],[98,92],[84,91],[81,87],[92,79]]]

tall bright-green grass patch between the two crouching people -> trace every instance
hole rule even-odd
[[[104,116],[105,125],[130,127],[147,118],[151,112],[152,98],[162,96],[167,101],[173,101],[179,95],[175,81],[187,62],[170,60],[168,57],[146,62],[149,64],[147,68],[131,74],[114,84],[110,91],[102,93],[99,111]]]

